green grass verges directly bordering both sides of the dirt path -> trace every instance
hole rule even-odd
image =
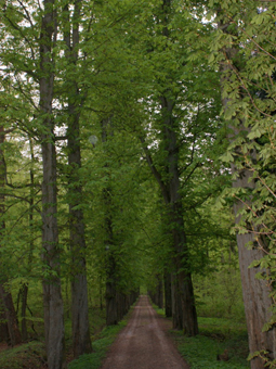
[[[155,306],[160,315],[163,309]],[[199,318],[200,334],[187,338],[180,331],[171,331],[179,352],[189,364],[190,369],[248,369],[248,342],[245,323],[236,322],[225,318]],[[98,339],[93,342],[94,352],[82,355],[78,360],[70,362],[68,369],[98,369],[106,353],[118,335],[119,331],[127,325],[123,320],[118,326],[105,328]],[[228,351],[228,361],[218,361],[216,356],[225,349]]]

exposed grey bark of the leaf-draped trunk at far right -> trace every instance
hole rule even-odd
[[[233,173],[237,173],[234,165],[232,168]],[[251,171],[242,170],[237,180],[234,181],[233,187],[253,189],[254,182],[253,180],[250,181],[251,176]],[[238,213],[244,206],[245,205],[241,202],[234,205],[237,225],[240,220]],[[254,242],[253,233],[237,234],[249,351],[251,354],[261,349],[268,351],[268,356],[274,359],[276,357],[276,329],[273,327],[268,332],[262,331],[263,326],[272,318],[271,306],[273,302],[270,297],[271,290],[267,287],[266,281],[255,278],[258,272],[264,270],[261,270],[259,267],[249,268],[250,264],[254,260],[260,260],[264,256],[264,253],[258,249],[248,250],[247,244],[249,242]],[[251,369],[266,368],[263,360],[259,357],[255,357],[250,361],[250,367]]]

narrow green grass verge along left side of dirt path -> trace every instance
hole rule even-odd
[[[93,353],[81,355],[77,360],[69,364],[68,369],[98,369],[106,357],[108,348],[126,326],[127,320],[122,320],[117,326],[104,328],[100,338],[92,343]]]

